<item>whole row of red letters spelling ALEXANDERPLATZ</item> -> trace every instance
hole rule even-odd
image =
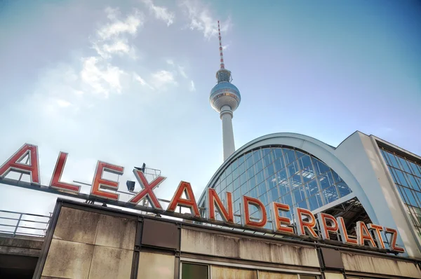
[[[28,163],[21,163],[22,159],[27,156],[29,156]],[[48,187],[49,189],[57,190],[58,193],[66,192],[80,196],[81,193],[79,193],[79,185],[61,181],[62,172],[65,169],[66,159],[67,153],[60,152],[60,154],[58,154],[57,163],[55,164],[53,175]],[[11,171],[29,175],[31,185],[34,186],[34,189],[36,189],[36,186],[41,186],[38,147],[32,144],[24,144],[18,151],[16,151],[15,154],[13,154],[13,156],[11,156],[11,158],[1,165],[0,179],[4,179],[4,177]],[[102,178],[102,174],[104,172],[112,172],[116,175],[123,175],[124,168],[119,165],[98,161],[89,196],[109,201],[119,201],[119,194],[116,193],[116,190],[119,189],[119,182]],[[161,184],[166,177],[159,176],[152,182],[148,182],[142,171],[134,169],[133,172],[140,186],[142,186],[142,190],[136,193],[135,196],[126,203],[123,203],[123,206],[128,205],[133,207],[133,205],[138,205],[140,200],[147,198],[153,208],[153,212],[161,213],[163,215],[166,213],[171,215],[171,213],[175,212],[177,207],[187,207],[190,210],[189,219],[196,219],[203,222],[203,217],[200,215],[199,207],[196,203],[192,186],[189,182],[180,182],[168,207],[164,209],[158,198],[156,198],[154,189],[156,186]],[[218,196],[215,189],[209,188],[206,191],[207,217],[205,221],[220,224],[220,222],[216,220],[215,216],[215,212],[218,212],[220,217],[222,217],[222,222],[226,226],[238,227],[238,225],[234,224],[232,193],[225,193],[225,197],[223,197],[223,199],[225,199],[225,203],[223,203],[221,197]],[[257,198],[249,196],[242,197],[241,205],[241,226],[255,230],[264,229],[268,222],[268,212],[265,209],[265,205],[263,205],[263,203]],[[250,218],[249,205],[253,205],[258,208],[260,219]],[[270,210],[270,213],[272,214],[273,233],[281,234],[283,236],[307,236],[309,238],[314,238],[314,240],[320,238],[323,240],[330,240],[330,234],[337,234],[340,236],[342,243],[347,245],[354,245],[355,247],[358,247],[368,244],[370,247],[377,247],[378,249],[385,250],[387,248],[385,247],[385,241],[382,236],[382,233],[384,233],[386,237],[389,236],[387,243],[390,252],[405,252],[402,247],[396,245],[396,239],[398,236],[396,229],[387,228],[377,224],[356,222],[356,238],[354,238],[348,235],[346,225],[342,217],[335,218],[332,215],[322,212],[315,216],[310,210],[297,207],[293,212],[293,222],[295,223],[295,226],[292,226],[292,220],[287,217],[283,217],[280,214],[281,212],[288,212],[290,210],[289,205],[272,202],[272,210]]]

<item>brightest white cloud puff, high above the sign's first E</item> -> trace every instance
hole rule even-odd
[[[83,58],[81,81],[99,93],[108,97],[109,93],[121,93],[121,76],[126,74],[119,67],[112,66],[100,57]]]

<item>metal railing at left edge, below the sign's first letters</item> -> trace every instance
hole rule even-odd
[[[44,237],[51,216],[0,210],[0,233],[9,237]]]

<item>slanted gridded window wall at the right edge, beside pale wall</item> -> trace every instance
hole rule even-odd
[[[421,164],[381,149],[383,158],[406,206],[406,213],[421,239]]]

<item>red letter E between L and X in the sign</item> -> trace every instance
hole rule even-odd
[[[119,165],[112,165],[109,163],[98,161],[95,175],[93,177],[91,195],[100,198],[107,198],[109,200],[119,200],[118,193],[109,193],[101,191],[102,189],[117,190],[119,189],[119,182],[111,181],[102,178],[102,172],[112,172],[116,175],[123,175],[124,168]]]

